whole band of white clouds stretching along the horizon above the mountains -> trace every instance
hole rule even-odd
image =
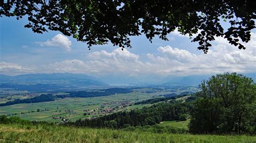
[[[255,72],[256,69],[256,34],[245,44],[245,50],[231,46],[223,38],[216,38],[207,54],[194,54],[185,49],[165,46],[158,47],[158,52],[146,54],[147,60],[131,53],[127,49],[114,49],[112,52],[99,51],[85,55],[84,60],[65,60],[48,65],[37,66],[37,73],[85,73],[92,75],[119,74],[130,77],[139,75],[193,75],[238,72]],[[53,40],[52,40],[53,41]],[[29,68],[2,62],[1,69],[31,71]],[[33,66],[31,66],[33,67]],[[30,67],[30,68],[31,68]],[[36,67],[36,66],[34,66]]]

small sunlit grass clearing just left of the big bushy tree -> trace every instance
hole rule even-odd
[[[190,123],[190,120],[185,120],[185,121],[163,121],[159,125],[160,126],[172,126],[175,128],[184,128],[185,130],[188,130],[188,124]]]

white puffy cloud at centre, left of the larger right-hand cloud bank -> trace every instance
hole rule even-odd
[[[100,51],[92,52],[86,55],[88,68],[102,74],[120,73],[136,74],[146,68],[142,61],[139,61],[139,55],[130,53],[127,49],[114,49],[112,52]]]

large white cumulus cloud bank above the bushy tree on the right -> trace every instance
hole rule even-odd
[[[255,72],[256,34],[245,44],[245,50],[238,49],[223,38],[216,41],[207,54],[193,54],[184,49],[171,46],[159,47],[160,56],[147,54],[155,62],[156,71],[161,74],[211,74],[230,72]]]

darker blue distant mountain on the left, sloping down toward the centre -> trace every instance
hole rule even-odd
[[[81,88],[81,87],[102,87],[108,84],[96,77],[85,74],[54,73],[54,74],[24,74],[8,76],[0,74],[0,88],[18,89],[59,89],[59,88]]]

